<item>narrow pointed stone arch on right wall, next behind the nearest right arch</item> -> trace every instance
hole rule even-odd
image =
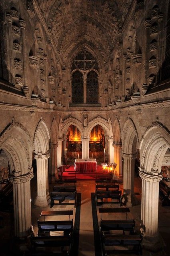
[[[138,133],[134,122],[128,118],[122,129],[122,151],[125,154],[135,154],[136,146],[139,148]]]

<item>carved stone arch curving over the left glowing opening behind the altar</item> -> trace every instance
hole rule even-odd
[[[78,119],[74,118],[74,117],[68,117],[66,118],[63,122],[62,122],[62,127],[61,130],[59,132],[59,137],[62,138],[63,134],[66,133],[68,127],[73,124],[74,126],[76,126],[78,128],[78,130],[80,131],[80,134],[82,136],[82,138],[84,138],[84,132],[83,132],[83,127],[82,127],[82,122],[80,122]]]

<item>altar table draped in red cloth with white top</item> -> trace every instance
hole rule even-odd
[[[96,172],[97,162],[96,159],[76,159],[74,163],[76,172]]]

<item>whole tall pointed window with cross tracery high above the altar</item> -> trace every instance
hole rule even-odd
[[[98,104],[98,62],[94,54],[86,48],[80,50],[72,60],[71,72],[72,104]]]

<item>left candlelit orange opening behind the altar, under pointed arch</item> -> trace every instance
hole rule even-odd
[[[81,133],[75,125],[71,124],[68,127],[63,143],[64,154],[67,154],[69,161],[75,160],[75,158],[82,158]],[[66,162],[65,158],[63,162]]]

